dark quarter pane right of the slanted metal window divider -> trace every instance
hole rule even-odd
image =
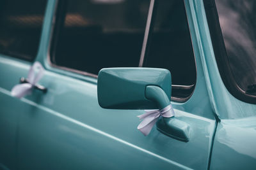
[[[173,85],[195,85],[196,67],[184,1],[161,0],[143,66],[172,73]]]

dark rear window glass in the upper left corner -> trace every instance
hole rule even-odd
[[[38,51],[46,0],[0,1],[0,53],[33,60]]]

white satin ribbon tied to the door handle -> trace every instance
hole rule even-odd
[[[28,78],[26,79],[28,83],[15,85],[11,92],[12,96],[21,98],[31,94],[33,87],[42,78],[43,75],[44,67],[40,64],[40,62],[35,62],[29,69]]]

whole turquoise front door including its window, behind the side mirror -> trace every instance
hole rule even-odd
[[[6,72],[19,71],[2,88],[4,101],[24,106],[2,106],[20,110],[18,169],[207,169],[216,120],[195,9],[191,1],[160,2],[161,15],[154,14],[155,1],[48,1],[36,57],[46,69],[39,83],[47,93],[13,99],[10,90],[29,64],[1,58]],[[136,129],[143,110],[100,108],[97,71],[109,66],[170,69],[175,117],[188,125],[189,141],[156,127],[143,136]]]

